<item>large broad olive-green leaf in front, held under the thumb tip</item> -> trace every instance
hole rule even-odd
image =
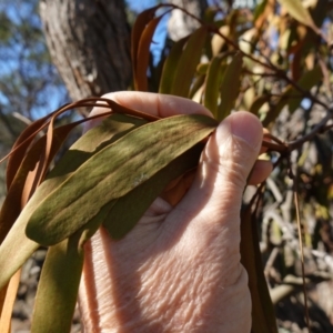
[[[27,235],[43,245],[62,241],[108,202],[150,179],[215,127],[215,120],[191,114],[159,120],[130,132],[94,154],[49,194],[29,216]]]

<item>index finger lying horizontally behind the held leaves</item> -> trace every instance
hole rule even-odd
[[[189,99],[175,95],[139,91],[118,91],[107,93],[102,98],[113,100],[123,107],[137,109],[139,111],[161,118],[191,113],[212,117],[212,113],[203,105],[198,104]],[[104,108],[93,108],[90,115],[95,115],[103,112],[105,112]],[[84,131],[99,124],[101,121],[102,119],[89,121],[84,127]]]

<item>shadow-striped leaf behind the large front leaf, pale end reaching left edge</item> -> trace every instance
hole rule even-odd
[[[39,203],[63,183],[89,158],[107,144],[118,140],[121,135],[143,123],[147,123],[147,121],[124,114],[113,114],[105,119],[99,127],[88,131],[71,147],[48,175],[48,179],[38,188],[24,208],[24,215],[21,214],[18,218],[0,245],[0,290],[39,248],[38,243],[31,241],[26,235],[28,219]]]

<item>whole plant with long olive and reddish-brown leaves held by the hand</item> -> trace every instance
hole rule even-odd
[[[311,92],[314,88],[324,97],[331,95],[330,64],[324,61],[329,49],[317,28],[324,19],[323,2],[329,6],[317,1],[305,8],[300,0],[280,0],[278,6],[275,0],[264,0],[254,14],[210,9],[204,20],[198,19],[196,31],[173,43],[161,61],[162,71],[150,68],[148,79],[153,33],[162,17],[176,7],[151,8],[133,27],[135,90],[148,91],[158,80],[160,93],[202,103],[214,118],[191,114],[159,119],[144,110],[90,98],[64,105],[22,132],[7,157],[8,194],[0,213],[1,332],[10,330],[21,266],[40,245],[48,246],[48,254],[32,332],[69,332],[84,243],[100,226],[115,240],[130,232],[171,181],[195,170],[206,139],[232,110],[248,109],[264,127],[276,131],[272,125],[282,110],[292,114],[305,98],[311,107],[322,107],[325,115],[311,128],[305,124],[302,135],[290,138],[289,143],[264,135],[262,144],[268,153],[274,152],[274,167],[281,174],[292,174],[291,152],[301,151],[304,142],[331,128],[331,109]],[[219,19],[221,12],[223,19]],[[272,21],[276,47],[269,47]],[[289,57],[282,57],[284,53]],[[60,114],[81,107],[104,108],[105,113],[54,127]],[[49,171],[74,127],[107,115]],[[249,273],[254,333],[278,332],[255,225],[264,193],[262,184],[241,212],[241,254]]]

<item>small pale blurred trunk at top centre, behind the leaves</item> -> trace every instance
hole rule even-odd
[[[169,2],[184,8],[196,18],[202,18],[204,10],[208,8],[206,0],[170,0]],[[199,27],[200,24],[196,20],[189,17],[183,11],[175,9],[171,12],[171,17],[168,22],[169,37],[170,39],[178,41],[193,32]]]

